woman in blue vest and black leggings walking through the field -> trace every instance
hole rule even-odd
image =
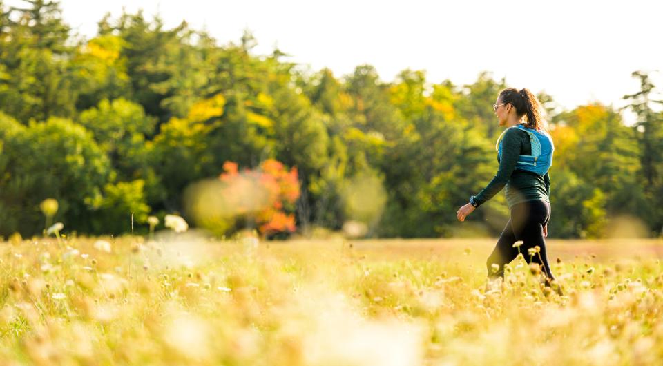
[[[506,201],[511,218],[486,262],[488,277],[504,276],[504,264],[516,258],[519,251],[529,263],[540,265],[546,286],[555,280],[546,254],[548,220],[550,220],[550,176],[553,164],[553,139],[542,128],[539,101],[530,90],[502,90],[493,105],[499,126],[506,126],[497,141],[499,170],[488,186],[470,197],[456,216],[465,217],[506,186]],[[518,247],[515,242],[522,240]],[[538,249],[537,249],[538,247]],[[528,250],[538,251],[530,256]],[[561,289],[557,286],[557,292]]]

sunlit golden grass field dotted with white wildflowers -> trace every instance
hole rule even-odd
[[[520,259],[486,291],[493,245],[6,242],[0,364],[660,364],[661,240],[548,240],[564,296]]]

